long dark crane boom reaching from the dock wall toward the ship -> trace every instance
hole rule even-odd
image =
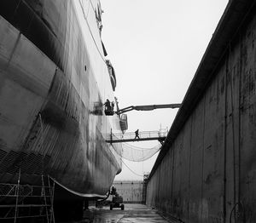
[[[165,104],[165,105],[149,105],[149,106],[128,106],[116,111],[116,114],[120,115],[127,111],[137,110],[137,111],[152,111],[154,109],[160,108],[179,108],[181,104]]]

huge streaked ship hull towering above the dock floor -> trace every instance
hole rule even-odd
[[[64,188],[56,199],[103,197],[121,170],[103,136],[119,126],[96,111],[113,98],[108,68],[73,2],[1,1],[0,12],[0,183],[49,175]]]

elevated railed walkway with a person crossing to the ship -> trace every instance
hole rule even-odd
[[[119,142],[159,140],[160,143],[163,143],[163,141],[166,140],[167,134],[167,130],[139,132],[138,138],[136,137],[135,132],[129,132],[125,134],[110,134],[108,139],[106,139],[106,142],[112,144]]]

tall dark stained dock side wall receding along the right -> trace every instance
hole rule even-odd
[[[186,223],[256,222],[256,10],[249,10],[223,54],[212,55],[219,59],[206,71],[211,80],[149,175],[147,204]]]

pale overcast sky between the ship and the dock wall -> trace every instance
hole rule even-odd
[[[101,0],[102,41],[117,77],[119,107],[180,103],[228,0]],[[130,111],[127,132],[170,129],[177,109]],[[150,147],[157,142],[133,143]],[[150,172],[155,157],[124,162]],[[142,180],[123,166],[115,180]]]

